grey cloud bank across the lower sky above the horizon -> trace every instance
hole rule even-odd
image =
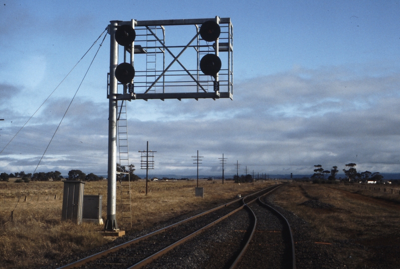
[[[222,153],[228,158],[225,175],[236,174],[236,161],[240,174],[246,166],[260,174],[310,174],[315,164],[341,170],[349,162],[357,163],[360,171],[396,172],[398,80],[396,73],[360,75],[339,67],[296,67],[238,83],[233,101],[128,102],[130,161],[137,173],[143,172],[138,151],[149,141],[150,150],[157,151],[152,171],[157,174],[196,174],[192,156],[197,150],[203,156],[201,173],[211,175],[221,174]],[[32,165],[68,104],[65,98],[49,100],[7,149],[9,157],[2,156],[0,169]],[[70,169],[105,174],[107,119],[107,100],[77,98],[39,167],[64,174]],[[20,152],[25,159],[15,157]]]

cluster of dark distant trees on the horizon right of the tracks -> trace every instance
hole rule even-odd
[[[345,165],[345,168],[343,169],[343,172],[346,175],[345,179],[342,179],[343,181],[347,182],[363,182],[367,183],[368,180],[373,180],[376,181],[377,183],[380,183],[383,181],[384,176],[381,175],[380,172],[370,172],[370,171],[364,171],[364,172],[357,172],[356,169],[357,164],[355,163],[348,163]],[[322,168],[321,164],[314,165],[314,174],[311,176],[311,179],[313,179],[314,183],[324,183],[326,181],[326,177],[328,179],[328,183],[331,183],[336,180],[336,175],[339,172],[337,166],[333,166],[330,170],[325,170]],[[329,176],[328,176],[329,175]]]

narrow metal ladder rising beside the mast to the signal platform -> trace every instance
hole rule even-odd
[[[127,172],[117,172],[121,184],[121,213],[122,227],[132,228],[132,207],[131,207],[131,178],[129,174],[129,147],[128,147],[128,121],[126,113],[126,101],[118,101],[118,148],[119,163],[125,166]],[[128,176],[128,181],[121,180],[122,177]]]

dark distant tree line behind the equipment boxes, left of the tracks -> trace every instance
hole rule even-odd
[[[117,171],[123,173],[129,173],[130,180],[135,181],[140,179],[139,176],[134,174],[135,165],[130,164],[128,170],[125,166],[121,166],[117,163]],[[15,182],[29,182],[31,181],[60,181],[64,177],[59,171],[51,172],[37,172],[32,175],[32,173],[25,174],[24,171],[15,172],[7,174],[5,172],[0,173],[0,181],[8,182],[9,178],[17,178]],[[68,172],[68,180],[80,180],[80,181],[99,181],[103,180],[104,177],[98,176],[94,173],[85,174],[81,170],[73,169]],[[128,174],[117,174],[117,180],[128,180]]]

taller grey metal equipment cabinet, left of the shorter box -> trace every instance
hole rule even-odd
[[[82,223],[83,189],[85,182],[79,180],[65,180],[62,199],[62,221],[72,221],[78,225]]]

